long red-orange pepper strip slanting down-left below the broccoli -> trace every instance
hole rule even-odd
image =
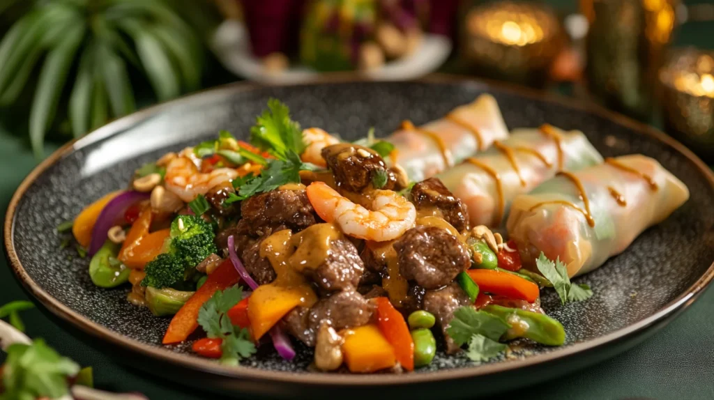
[[[238,272],[233,267],[233,262],[230,259],[221,262],[221,265],[218,265],[213,274],[208,275],[206,283],[196,290],[196,293],[174,315],[174,319],[171,319],[169,329],[166,329],[162,343],[173,344],[186,340],[188,335],[198,327],[196,319],[198,319],[198,311],[203,307],[203,303],[213,297],[216,291],[227,289],[238,283],[239,278]]]

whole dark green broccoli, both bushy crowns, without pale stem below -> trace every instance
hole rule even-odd
[[[179,215],[171,222],[169,251],[146,264],[142,286],[178,287],[191,277],[193,268],[211,253],[218,252],[213,227],[201,217]]]

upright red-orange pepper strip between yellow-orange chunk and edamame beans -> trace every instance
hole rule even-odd
[[[407,371],[414,369],[414,340],[401,312],[398,312],[389,299],[377,297],[377,326],[393,349],[399,364]]]

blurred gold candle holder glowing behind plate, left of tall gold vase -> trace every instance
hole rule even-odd
[[[542,87],[565,43],[552,9],[531,2],[481,4],[466,14],[461,58],[478,75]]]

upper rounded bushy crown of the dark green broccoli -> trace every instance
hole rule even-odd
[[[179,215],[171,222],[171,251],[188,267],[196,267],[211,253],[218,252],[213,226],[196,215]]]

